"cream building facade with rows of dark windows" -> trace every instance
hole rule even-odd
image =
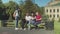
[[[54,20],[59,20],[60,18],[60,0],[54,0],[53,2],[48,3],[47,6],[45,6],[45,14],[49,16],[49,19],[51,20],[54,18]]]

